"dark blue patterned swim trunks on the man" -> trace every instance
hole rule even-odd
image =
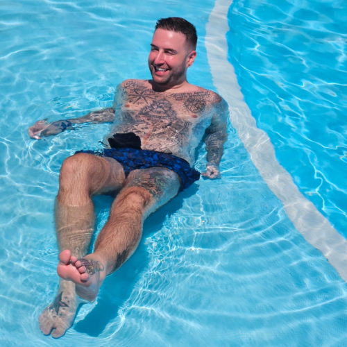
[[[167,153],[128,147],[103,149],[101,151],[78,151],[76,153],[90,153],[101,157],[114,158],[122,164],[126,177],[133,170],[166,167],[180,176],[182,182],[179,192],[187,189],[200,178],[200,173],[192,169],[189,162]]]

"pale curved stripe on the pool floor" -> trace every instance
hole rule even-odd
[[[347,282],[346,239],[299,192],[290,174],[277,161],[269,136],[257,128],[251,110],[244,101],[234,68],[227,58],[227,16],[231,4],[232,0],[217,0],[206,25],[205,44],[214,85],[229,104],[231,124],[251,155],[253,164],[271,191],[282,201],[295,228],[307,242],[323,253]]]

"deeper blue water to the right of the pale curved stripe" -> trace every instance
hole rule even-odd
[[[301,192],[347,237],[346,1],[238,0],[229,60]]]

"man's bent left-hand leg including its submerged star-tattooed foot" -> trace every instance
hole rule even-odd
[[[60,187],[56,199],[56,232],[60,252],[69,249],[82,258],[87,254],[94,231],[94,206],[91,196],[121,188],[124,170],[116,160],[78,153],[67,158],[60,171]],[[78,305],[73,282],[60,278],[53,303],[40,316],[40,329],[51,330],[60,337],[70,328]]]

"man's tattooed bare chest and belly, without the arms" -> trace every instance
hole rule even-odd
[[[212,101],[207,90],[168,94],[155,92],[141,81],[126,81],[117,130],[135,133],[146,149],[176,151],[187,146],[196,119],[205,117]]]

